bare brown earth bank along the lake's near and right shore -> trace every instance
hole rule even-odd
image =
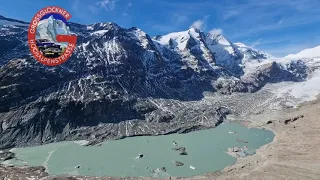
[[[109,180],[320,180],[320,100],[304,103],[297,109],[272,111],[248,117],[249,127],[273,131],[274,141],[222,171],[195,177],[117,178],[51,176],[43,167],[0,166],[0,179],[109,179]]]

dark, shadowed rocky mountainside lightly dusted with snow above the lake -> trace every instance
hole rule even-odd
[[[0,30],[5,47],[0,51],[0,148],[80,139],[94,144],[214,127],[230,111],[194,106],[205,91],[255,92],[266,83],[300,81],[306,74],[301,63],[288,68],[272,63],[247,81],[209,65],[214,53],[207,52],[207,60],[195,39],[189,39],[187,51],[199,69],[185,68],[182,60],[189,57],[138,28],[70,23],[70,30],[78,34],[78,47],[57,67],[29,56],[26,27]]]

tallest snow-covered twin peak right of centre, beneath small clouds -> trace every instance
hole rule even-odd
[[[190,59],[200,55],[209,62],[210,66],[221,66],[238,75],[243,73],[242,66],[246,62],[260,62],[263,59],[272,58],[271,55],[242,43],[232,43],[221,30],[205,33],[199,29],[190,28],[186,31],[156,36],[153,39],[155,43],[189,58],[185,62],[191,62]]]

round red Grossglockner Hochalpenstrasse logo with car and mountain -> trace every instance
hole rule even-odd
[[[77,36],[67,26],[70,18],[68,11],[57,6],[45,7],[32,18],[28,29],[28,44],[37,61],[57,66],[71,57]]]

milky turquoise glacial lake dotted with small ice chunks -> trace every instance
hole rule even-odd
[[[226,153],[228,148],[257,149],[273,138],[274,134],[268,130],[224,123],[217,128],[188,134],[131,137],[107,141],[101,146],[60,142],[17,148],[13,150],[16,158],[5,163],[42,165],[54,175],[194,176],[235,163],[236,159]],[[185,147],[187,155],[172,149],[177,147]],[[136,158],[139,154],[143,157]],[[176,166],[175,161],[183,165]],[[158,169],[162,167],[166,172]]]

